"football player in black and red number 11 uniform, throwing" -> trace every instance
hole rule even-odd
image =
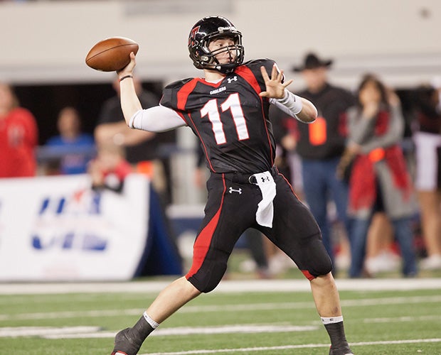
[[[188,37],[188,50],[204,78],[169,84],[157,107],[142,109],[139,103],[132,80],[133,53],[129,65],[117,73],[129,127],[153,132],[190,127],[200,140],[211,177],[190,271],[164,288],[134,327],[117,333],[112,354],[137,354],[161,322],[216,288],[235,242],[248,227],[262,231],[308,278],[331,339],[329,354],[352,354],[319,226],[274,164],[270,104],[305,124],[316,119],[317,109],[286,89],[292,80],[284,82],[274,61],[244,63],[242,34],[226,18],[198,21]]]

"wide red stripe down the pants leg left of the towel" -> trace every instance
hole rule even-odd
[[[223,207],[223,197],[225,195],[225,175],[222,174],[223,180],[223,192],[222,192],[222,200],[221,205],[219,206],[218,211],[213,216],[210,222],[202,229],[201,233],[199,233],[198,238],[194,242],[193,246],[193,264],[191,265],[190,271],[186,274],[186,279],[191,278],[198,270],[201,268],[203,261],[205,260],[208,250],[210,249],[211,240],[213,239],[214,231],[216,231],[216,227],[219,223],[219,218],[221,217],[222,207]]]

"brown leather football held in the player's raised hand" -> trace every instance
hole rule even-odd
[[[139,45],[125,37],[111,37],[100,40],[86,55],[86,64],[102,72],[115,72],[130,62],[130,53],[138,53]]]

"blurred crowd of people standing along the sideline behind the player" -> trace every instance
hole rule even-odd
[[[366,72],[349,90],[329,82],[332,64],[307,53],[289,68],[306,85],[294,93],[313,102],[319,116],[313,124],[298,124],[270,111],[277,168],[314,214],[334,273],[364,278],[399,271],[413,277],[441,270],[441,80],[400,95]],[[169,157],[159,152],[162,133],[129,129],[117,82],[114,88],[92,133],[82,130],[77,108],[63,107],[58,135],[40,144],[36,117],[20,106],[10,84],[0,83],[0,178],[87,173],[92,188],[120,192],[125,176],[143,173],[164,206],[171,204]],[[144,108],[159,103],[141,82],[137,90]],[[208,170],[201,150],[193,154],[194,188],[203,190]],[[260,232],[248,230],[244,240],[250,260],[243,270],[271,278],[289,265]]]

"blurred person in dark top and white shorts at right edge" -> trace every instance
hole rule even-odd
[[[414,133],[415,188],[427,258],[425,270],[441,269],[441,82],[421,87],[417,96],[418,131]]]

